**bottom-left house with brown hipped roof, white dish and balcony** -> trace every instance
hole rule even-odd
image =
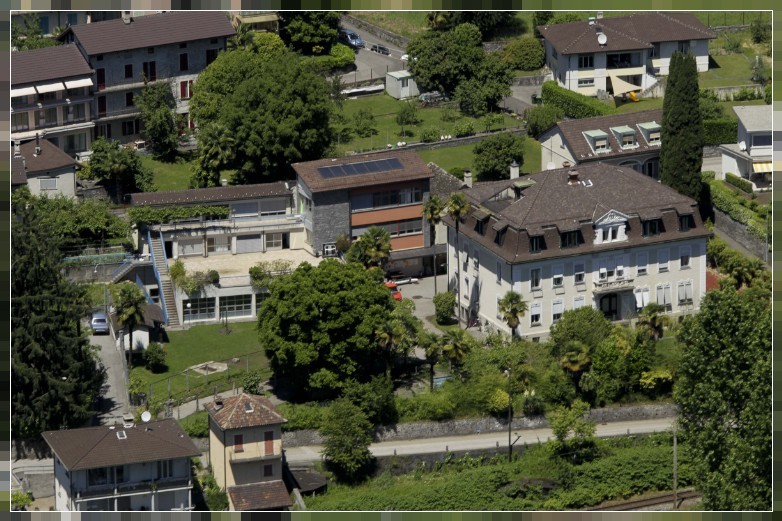
[[[190,458],[173,419],[43,433],[54,454],[54,509],[192,510]]]

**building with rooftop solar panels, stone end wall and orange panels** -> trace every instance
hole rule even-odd
[[[430,229],[423,219],[431,169],[415,152],[394,150],[295,163],[298,212],[304,216],[305,248],[336,256],[340,236],[352,240],[371,226],[391,235],[387,269],[419,275],[431,262]]]

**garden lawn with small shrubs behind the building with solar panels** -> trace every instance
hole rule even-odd
[[[447,111],[455,112],[459,119],[469,119],[473,121],[475,131],[485,130],[483,119],[461,116],[458,110],[451,105],[448,109],[441,105],[437,107],[426,107],[418,109],[419,123],[412,127],[405,127],[405,135],[402,135],[402,127],[396,122],[396,115],[406,101],[400,101],[387,94],[378,94],[374,96],[364,96],[361,98],[346,100],[343,104],[342,113],[348,121],[352,121],[359,110],[369,110],[375,117],[376,133],[370,137],[352,136],[348,142],[337,143],[337,155],[343,156],[349,152],[360,152],[368,150],[385,149],[387,144],[396,145],[400,141],[407,143],[416,143],[421,140],[421,132],[427,128],[436,128],[440,135],[453,135],[456,121],[444,121],[443,113]],[[417,103],[412,101],[411,103]],[[458,120],[457,120],[458,121]],[[501,128],[519,127],[520,122],[510,116],[503,117],[502,125],[492,126],[492,130]]]

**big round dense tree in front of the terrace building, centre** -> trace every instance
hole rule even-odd
[[[269,283],[258,314],[259,339],[279,377],[301,397],[330,398],[349,378],[385,369],[375,332],[394,310],[382,273],[360,264],[307,263]]]

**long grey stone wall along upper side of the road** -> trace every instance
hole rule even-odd
[[[589,418],[597,423],[618,421],[649,420],[654,418],[670,418],[676,415],[673,404],[636,405],[629,407],[606,407],[594,409]],[[513,420],[512,428],[539,429],[547,427],[548,422],[543,417],[517,418]],[[501,432],[507,430],[507,422],[494,418],[475,418],[465,420],[450,420],[444,422],[412,422],[400,423],[390,427],[379,427],[375,430],[376,442],[393,440],[415,440],[437,438],[440,436],[465,436],[482,432]],[[283,446],[301,447],[305,445],[321,445],[323,438],[314,430],[284,432]]]

